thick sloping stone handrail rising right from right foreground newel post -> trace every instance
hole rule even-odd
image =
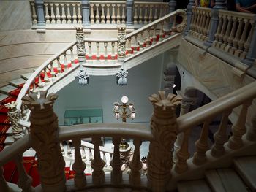
[[[214,118],[221,112],[238,107],[244,101],[255,97],[256,81],[177,118],[178,132],[184,132],[188,128],[203,123],[206,119]]]

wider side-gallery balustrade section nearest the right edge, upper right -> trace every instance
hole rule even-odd
[[[219,10],[214,47],[238,58],[245,58],[252,40],[255,15]]]

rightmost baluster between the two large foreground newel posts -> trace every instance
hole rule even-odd
[[[140,184],[140,169],[142,168],[142,163],[140,161],[141,141],[135,139],[133,141],[133,145],[135,145],[135,150],[132,161],[129,163],[129,168],[131,169],[131,172],[129,173],[129,183],[132,185],[138,185]]]

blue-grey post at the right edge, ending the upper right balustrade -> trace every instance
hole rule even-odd
[[[256,15],[254,20],[256,20]],[[252,28],[253,28],[252,40],[249,45],[249,50],[246,55],[246,58],[242,61],[244,64],[249,66],[252,66],[256,58],[256,23],[253,24]]]

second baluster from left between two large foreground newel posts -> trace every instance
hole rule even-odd
[[[105,182],[105,174],[103,167],[105,166],[104,161],[100,158],[100,137],[93,137],[92,143],[94,144],[94,160],[91,161],[91,167],[94,169],[92,172],[92,180],[95,185],[100,185]]]

